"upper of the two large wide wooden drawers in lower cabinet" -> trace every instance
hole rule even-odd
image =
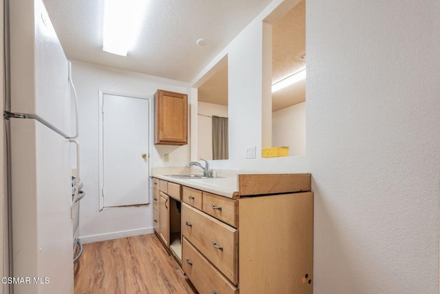
[[[186,203],[181,214],[182,234],[225,277],[238,284],[238,231]]]

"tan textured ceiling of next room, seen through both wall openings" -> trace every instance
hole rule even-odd
[[[272,23],[272,83],[305,67],[305,0]],[[222,61],[223,62],[223,61]],[[199,101],[228,105],[227,62],[199,87]],[[272,111],[305,101],[305,81],[272,94]]]

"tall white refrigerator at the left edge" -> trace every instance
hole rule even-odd
[[[70,65],[41,0],[5,9],[12,291],[74,293]]]

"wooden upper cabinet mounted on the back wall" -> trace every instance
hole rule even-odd
[[[154,94],[154,104],[154,143],[188,144],[188,95],[157,90]]]

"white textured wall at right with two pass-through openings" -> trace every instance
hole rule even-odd
[[[307,156],[244,160],[278,3],[199,74],[228,54],[231,159],[212,167],[312,174],[314,293],[439,293],[440,2],[307,0]]]

